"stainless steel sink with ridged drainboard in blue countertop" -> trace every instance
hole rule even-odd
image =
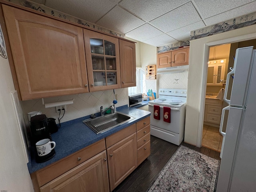
[[[104,116],[100,116],[93,119],[84,120],[84,124],[86,124],[89,128],[91,128],[96,134],[103,133],[108,131],[116,126],[124,124],[135,117],[132,117],[127,114],[123,114],[120,112],[115,112],[113,114],[107,114]]]

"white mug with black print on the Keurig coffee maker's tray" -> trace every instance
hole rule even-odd
[[[54,141],[50,141],[50,139],[43,139],[36,142],[36,151],[38,156],[45,156],[49,154],[55,148],[55,146],[56,143]]]

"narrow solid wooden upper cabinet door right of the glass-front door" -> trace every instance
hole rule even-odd
[[[135,44],[119,40],[121,87],[136,86],[136,51]]]

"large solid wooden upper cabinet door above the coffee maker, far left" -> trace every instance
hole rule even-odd
[[[82,28],[2,7],[22,100],[89,91]]]

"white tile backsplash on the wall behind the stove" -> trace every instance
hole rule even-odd
[[[187,89],[188,72],[158,75],[158,88]]]

